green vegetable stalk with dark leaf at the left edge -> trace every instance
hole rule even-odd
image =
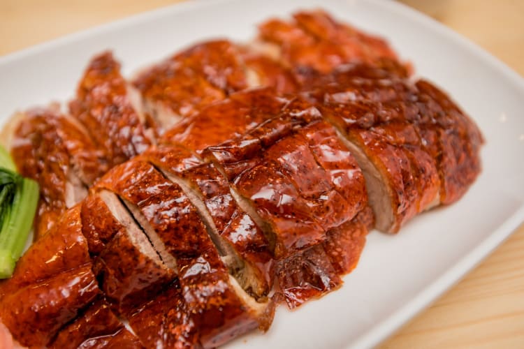
[[[13,274],[33,225],[39,189],[36,181],[17,174],[0,146],[0,279]]]

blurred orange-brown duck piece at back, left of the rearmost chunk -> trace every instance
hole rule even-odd
[[[178,121],[237,91],[270,86],[279,94],[291,93],[298,89],[298,82],[289,68],[249,45],[212,40],[143,70],[133,86],[142,96],[145,112],[152,115],[157,133],[162,135]],[[198,127],[191,121],[189,124]]]

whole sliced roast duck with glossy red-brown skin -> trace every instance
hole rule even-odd
[[[321,11],[130,83],[94,57],[68,114],[17,117],[41,204],[1,322],[23,346],[212,348],[340,287],[368,230],[455,202],[481,170],[472,119],[411,71]]]

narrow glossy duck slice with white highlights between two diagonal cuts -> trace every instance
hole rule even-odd
[[[228,181],[212,163],[198,160],[182,147],[150,149],[143,156],[168,179],[180,184],[199,211],[210,235],[224,251],[228,269],[242,288],[265,297],[272,285],[272,253],[252,218],[238,207]],[[191,163],[191,166],[184,164]],[[191,195],[192,194],[192,195]]]

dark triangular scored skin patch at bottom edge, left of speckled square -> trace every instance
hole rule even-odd
[[[121,338],[122,332],[129,331],[111,311],[110,306],[103,299],[98,299],[79,318],[62,328],[48,347],[51,349],[110,348],[111,346],[113,348],[143,348],[138,343],[138,338],[131,333],[125,335],[129,337],[125,346],[115,346],[116,342],[124,345],[123,338]]]

